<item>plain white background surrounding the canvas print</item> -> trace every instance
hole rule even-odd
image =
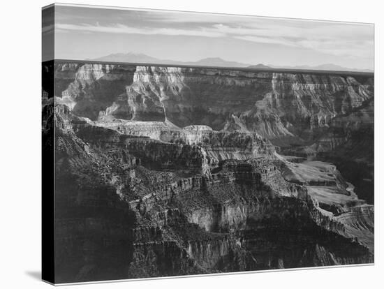
[[[300,17],[376,24],[376,265],[288,272],[103,283],[71,288],[379,288],[384,283],[383,84],[381,1],[348,0],[91,0],[73,3]],[[40,56],[41,6],[50,1],[3,1],[0,34],[0,287],[49,288],[40,279]],[[381,242],[379,242],[379,239]],[[381,244],[380,244],[381,243]],[[381,284],[381,285],[382,285]]]

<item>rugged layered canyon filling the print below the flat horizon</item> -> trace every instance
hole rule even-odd
[[[374,75],[47,61],[58,283],[374,262]]]

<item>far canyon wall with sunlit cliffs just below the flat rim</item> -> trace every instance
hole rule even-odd
[[[221,130],[235,116],[244,128],[267,138],[300,137],[306,130],[329,126],[334,117],[373,98],[374,87],[369,75],[108,64],[57,64],[57,71],[60,88],[65,87],[61,82],[72,80],[57,96],[102,104],[88,107],[92,119],[100,113],[138,121],[167,118],[177,126],[205,124]],[[78,114],[87,117],[80,110],[83,105],[77,105]]]

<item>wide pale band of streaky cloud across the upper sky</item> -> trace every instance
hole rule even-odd
[[[119,20],[115,20],[119,23],[97,14],[93,18],[88,15],[87,23],[79,23],[77,18],[71,23],[64,17],[61,20],[65,22],[55,28],[63,32],[231,38],[337,56],[374,57],[374,27],[370,24],[172,11],[128,10],[125,13],[126,17],[120,15]]]

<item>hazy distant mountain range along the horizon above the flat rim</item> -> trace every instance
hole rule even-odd
[[[354,69],[338,66],[335,64],[321,64],[318,66],[272,66],[272,65],[250,65],[244,64],[237,61],[226,61],[220,57],[208,57],[200,59],[199,61],[177,61],[170,59],[157,59],[150,57],[147,54],[142,53],[113,53],[104,57],[98,57],[91,59],[94,61],[113,61],[113,62],[128,62],[128,63],[142,63],[142,64],[171,64],[171,65],[191,65],[191,66],[216,66],[216,67],[247,67],[247,68],[283,68],[283,69],[294,69],[294,70],[316,70],[316,71],[360,71],[360,72],[374,72],[369,69]]]

